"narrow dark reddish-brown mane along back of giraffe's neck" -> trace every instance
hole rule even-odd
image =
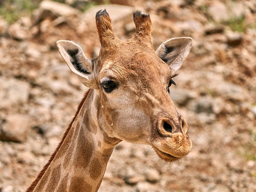
[[[57,154],[57,152],[59,151],[60,149],[60,146],[62,145],[62,143],[64,142],[65,138],[67,137],[68,135],[68,132],[72,126],[72,124],[74,123],[75,119],[76,119],[76,116],[78,115],[80,109],[82,108],[89,92],[90,92],[91,89],[88,89],[85,93],[84,93],[84,97],[83,99],[81,100],[81,102],[79,103],[78,107],[77,107],[77,110],[76,110],[76,114],[75,116],[73,117],[73,119],[71,120],[71,122],[69,123],[68,125],[68,128],[66,129],[64,135],[62,136],[61,140],[60,140],[60,143],[58,145],[58,147],[55,149],[55,151],[52,153],[50,159],[48,160],[47,164],[44,165],[43,169],[39,172],[39,174],[37,175],[36,179],[30,184],[30,186],[27,188],[26,192],[32,192],[36,185],[38,184],[38,182],[41,180],[41,178],[43,177],[44,173],[46,172],[47,168],[49,167],[49,165],[51,164],[52,160],[54,159],[55,155]]]

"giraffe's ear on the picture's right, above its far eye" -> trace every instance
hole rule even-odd
[[[187,59],[192,43],[191,37],[172,38],[157,48],[156,55],[167,63],[173,71],[177,71]]]

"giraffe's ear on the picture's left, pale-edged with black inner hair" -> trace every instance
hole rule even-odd
[[[59,40],[56,45],[62,58],[66,61],[70,70],[78,76],[82,84],[97,89],[93,75],[93,62],[84,55],[82,48],[72,41],[66,40]]]

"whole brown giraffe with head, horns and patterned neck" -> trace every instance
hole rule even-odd
[[[113,149],[122,140],[151,145],[167,162],[190,152],[188,124],[168,92],[192,38],[169,39],[154,51],[149,14],[135,11],[133,20],[134,36],[121,41],[106,10],[98,11],[101,49],[92,60],[72,41],[57,41],[60,55],[89,90],[27,192],[97,191]]]

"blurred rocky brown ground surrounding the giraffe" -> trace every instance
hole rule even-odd
[[[155,49],[194,39],[170,97],[189,125],[191,153],[161,162],[150,146],[116,146],[101,192],[256,191],[255,0],[1,0],[0,191],[24,191],[48,160],[86,87],[56,48],[60,39],[99,54],[95,13],[106,8],[120,39],[132,12],[150,13]]]

